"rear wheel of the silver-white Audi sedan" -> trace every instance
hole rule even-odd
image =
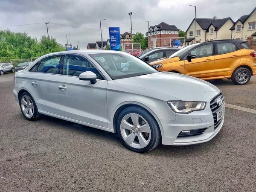
[[[34,99],[28,92],[22,93],[20,96],[20,110],[23,116],[29,121],[35,121],[41,118]]]

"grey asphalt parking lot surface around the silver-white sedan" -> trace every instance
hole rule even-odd
[[[13,76],[0,76],[1,192],[256,190],[255,113],[226,107],[224,126],[208,143],[138,154],[116,134],[48,116],[25,120],[12,94]],[[256,110],[256,76],[242,86],[210,82],[227,104]]]

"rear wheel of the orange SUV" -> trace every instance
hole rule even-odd
[[[233,72],[231,80],[234,84],[242,85],[247,84],[250,81],[250,77],[250,70],[245,67],[239,67]]]

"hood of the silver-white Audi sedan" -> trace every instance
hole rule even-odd
[[[119,89],[161,100],[209,102],[220,90],[207,81],[171,72],[114,80]]]

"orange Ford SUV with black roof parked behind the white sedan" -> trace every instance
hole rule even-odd
[[[256,53],[244,40],[215,40],[192,44],[150,63],[160,71],[186,74],[204,80],[231,79],[246,84],[256,75]]]

